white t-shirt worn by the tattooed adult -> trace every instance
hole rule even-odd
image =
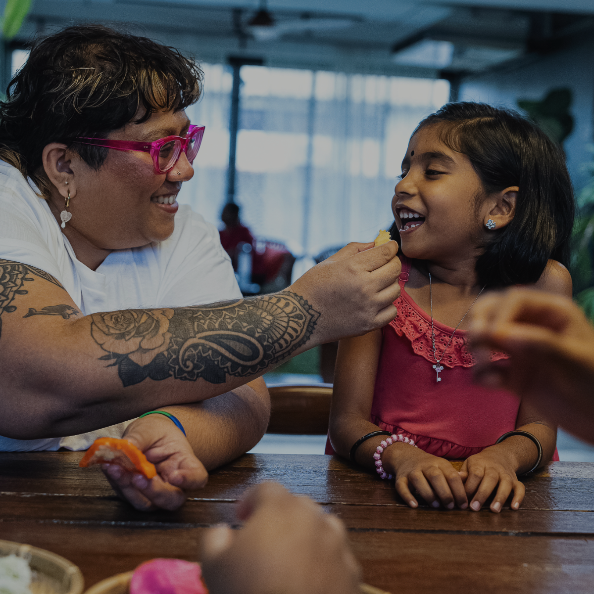
[[[241,297],[219,232],[189,206],[179,207],[175,230],[168,239],[111,252],[93,271],[77,260],[36,189],[17,169],[0,160],[0,258],[51,274],[84,315],[118,309],[187,307]],[[61,438],[0,437],[0,451],[84,450],[97,437],[122,437],[130,422]]]

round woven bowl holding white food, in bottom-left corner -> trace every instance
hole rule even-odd
[[[18,542],[0,541],[0,557],[14,553],[29,561],[33,570],[33,594],[81,594],[84,589],[80,569],[64,557]]]

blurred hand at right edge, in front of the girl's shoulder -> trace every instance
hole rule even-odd
[[[476,381],[506,387],[594,443],[594,328],[570,299],[508,289],[476,302],[470,336]],[[488,350],[510,354],[494,365]]]

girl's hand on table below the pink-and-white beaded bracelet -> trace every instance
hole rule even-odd
[[[433,507],[440,507],[440,502],[448,510],[454,505],[462,510],[468,507],[462,479],[447,460],[400,443],[386,448],[382,460],[387,472],[396,477],[396,492],[410,507],[419,505],[411,485]]]

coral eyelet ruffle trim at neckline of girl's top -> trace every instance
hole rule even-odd
[[[398,336],[404,335],[410,340],[412,349],[417,355],[422,356],[429,363],[434,364],[435,358],[431,344],[431,322],[426,320],[418,309],[413,307],[409,300],[410,296],[403,289],[400,297],[394,301],[398,313],[389,325],[394,328]],[[435,351],[437,352],[437,358],[440,359],[445,346],[450,340],[453,329],[447,333],[438,327],[438,323],[434,323],[434,331]],[[464,330],[457,330],[451,339],[450,346],[445,351],[445,355],[441,357],[440,365],[449,368],[456,366],[472,367],[475,364],[475,358],[467,349],[466,344],[466,332]],[[490,361],[500,361],[507,358],[508,355],[506,353],[496,351],[492,351],[489,356]]]

